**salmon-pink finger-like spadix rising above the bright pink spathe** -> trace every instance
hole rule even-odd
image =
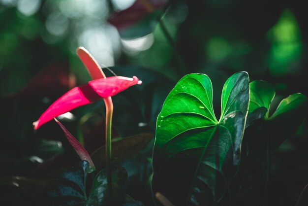
[[[103,70],[99,67],[94,57],[87,49],[85,49],[84,47],[78,47],[76,49],[76,53],[81,59],[82,63],[84,63],[84,65],[88,69],[90,76],[93,80],[106,78]]]

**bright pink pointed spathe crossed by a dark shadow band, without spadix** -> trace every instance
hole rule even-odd
[[[96,102],[100,98],[114,96],[135,84],[141,84],[141,81],[135,76],[133,78],[112,76],[106,79],[92,80],[88,84],[75,87],[51,104],[40,118],[33,123],[34,130],[37,130],[41,125],[52,120],[54,117],[79,106]]]

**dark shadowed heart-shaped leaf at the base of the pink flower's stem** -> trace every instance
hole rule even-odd
[[[89,162],[81,161],[55,179],[47,188],[46,206],[105,206],[107,193],[106,170],[99,172],[92,183],[89,197],[86,193],[86,179]],[[119,195],[127,178],[121,166],[112,167],[114,197]]]

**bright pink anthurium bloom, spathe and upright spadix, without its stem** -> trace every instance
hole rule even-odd
[[[34,130],[65,112],[79,106],[96,102],[101,98],[112,97],[135,84],[141,84],[137,77],[123,76],[107,77],[102,72],[96,60],[83,47],[77,48],[77,54],[88,69],[92,79],[87,84],[75,87],[66,92],[33,123]]]

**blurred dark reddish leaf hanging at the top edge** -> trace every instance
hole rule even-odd
[[[130,27],[137,23],[145,15],[162,8],[166,0],[136,0],[130,7],[114,13],[108,22],[118,30]]]

